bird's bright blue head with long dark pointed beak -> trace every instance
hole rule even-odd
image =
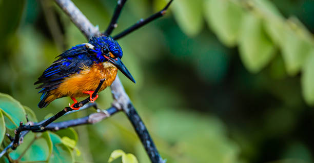
[[[87,46],[96,55],[97,61],[100,63],[108,62],[119,69],[125,76],[135,83],[134,78],[128,69],[121,62],[122,49],[120,45],[111,37],[100,36],[92,37]]]

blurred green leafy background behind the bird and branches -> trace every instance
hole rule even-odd
[[[115,0],[74,4],[101,31]],[[167,1],[130,0],[113,35]],[[120,74],[167,162],[313,162],[314,1],[174,0],[167,14],[119,40],[136,84]],[[53,1],[0,1],[0,92],[37,119],[37,77],[62,51],[86,43]],[[97,103],[105,109],[110,90]],[[92,110],[63,117],[86,116]],[[122,149],[149,162],[127,117],[74,128],[77,162],[106,162]]]

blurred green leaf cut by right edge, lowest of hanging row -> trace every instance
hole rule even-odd
[[[314,50],[311,51],[309,59],[303,68],[302,93],[307,104],[314,105]]]

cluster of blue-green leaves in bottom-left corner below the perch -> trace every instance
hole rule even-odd
[[[36,119],[32,110],[23,107],[11,96],[0,94],[0,120],[2,122],[0,143],[2,144],[2,149],[10,144],[10,140],[7,137],[5,138],[5,133],[14,135],[14,130],[18,127],[19,122],[23,121],[23,123],[26,123],[26,114],[29,115],[29,120]],[[71,135],[76,135],[76,132],[72,129],[66,129],[56,133],[29,132],[23,138],[23,143],[15,151],[9,149],[6,156],[3,156],[2,161],[74,162],[73,152],[71,151],[75,147],[77,136],[72,138]]]

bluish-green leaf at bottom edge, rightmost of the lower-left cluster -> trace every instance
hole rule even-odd
[[[49,158],[49,162],[74,162],[72,152],[66,145],[62,144],[61,138],[54,133],[49,133],[49,135],[53,144],[52,155]]]

